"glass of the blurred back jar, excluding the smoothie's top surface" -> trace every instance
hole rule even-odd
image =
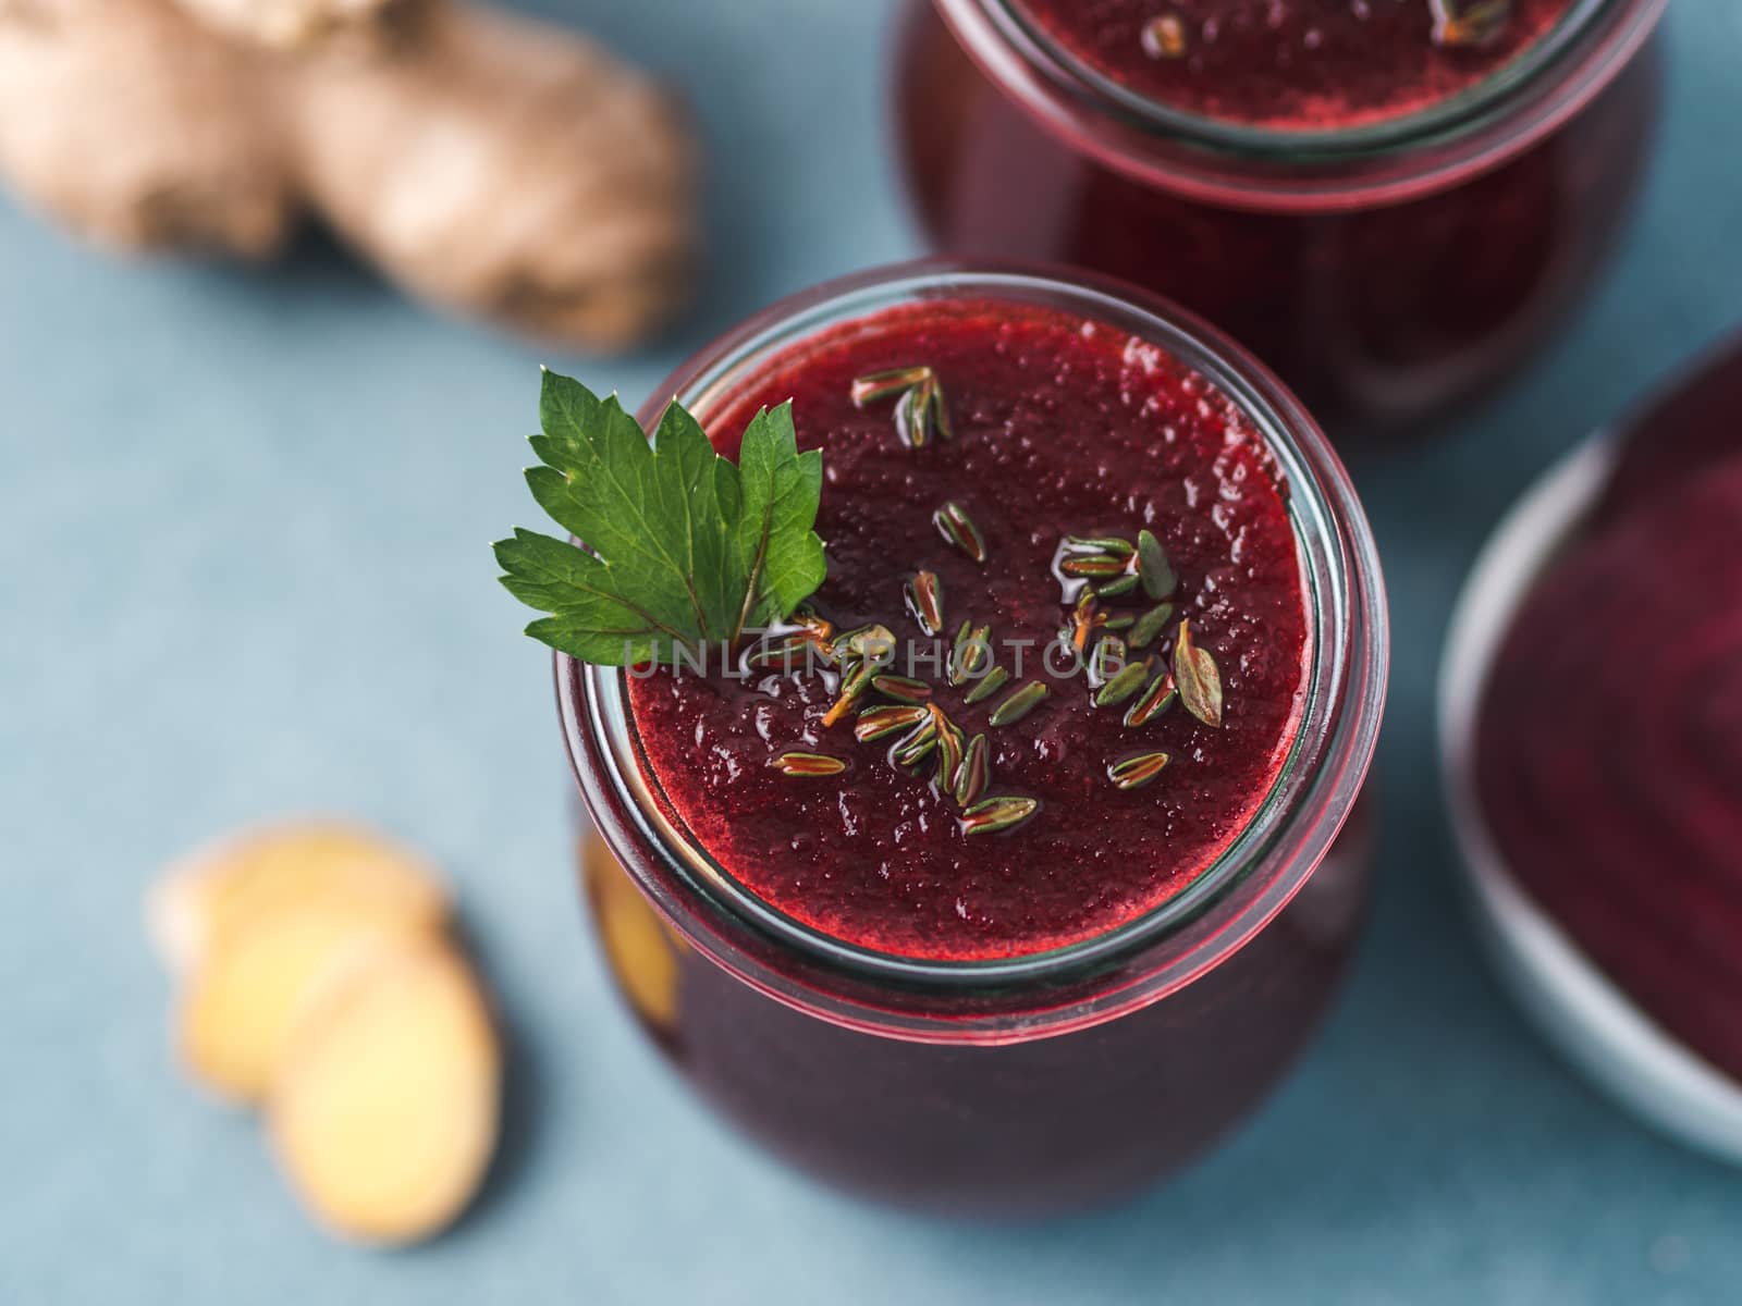
[[[1247,129],[1118,94],[1012,0],[911,0],[897,134],[939,249],[1075,263],[1202,313],[1338,437],[1498,381],[1603,265],[1660,99],[1664,0],[1578,0],[1395,122]]]

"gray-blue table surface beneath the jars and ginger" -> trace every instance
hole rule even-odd
[[[639,401],[787,291],[916,251],[885,3],[545,5],[683,84],[712,275],[577,364]],[[1742,1172],[1646,1134],[1526,1029],[1460,914],[1432,686],[1484,533],[1559,451],[1742,320],[1742,5],[1676,0],[1637,225],[1589,308],[1449,437],[1366,458],[1395,674],[1378,909],[1300,1073],[1131,1205],[1024,1229],[814,1186],[704,1113],[582,932],[545,656],[488,543],[547,352],[321,240],[120,265],[0,202],[0,1303],[1742,1301]],[[564,362],[552,359],[554,362]],[[165,1036],[141,895],[206,836],[355,813],[425,845],[510,1017],[507,1146],[460,1228],[327,1242]]]

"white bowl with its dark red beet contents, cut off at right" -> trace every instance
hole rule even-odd
[[[1475,904],[1550,1034],[1742,1160],[1742,341],[1554,472],[1474,573],[1442,726]]]

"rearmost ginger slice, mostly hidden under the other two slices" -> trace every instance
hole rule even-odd
[[[152,939],[171,970],[200,966],[218,940],[298,907],[437,928],[448,893],[422,857],[361,825],[284,822],[195,852],[152,890]]]

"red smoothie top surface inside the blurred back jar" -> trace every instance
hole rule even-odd
[[[1078,63],[1186,113],[1333,131],[1401,118],[1517,59],[1573,0],[1010,0]],[[1460,21],[1462,16],[1462,21]]]

